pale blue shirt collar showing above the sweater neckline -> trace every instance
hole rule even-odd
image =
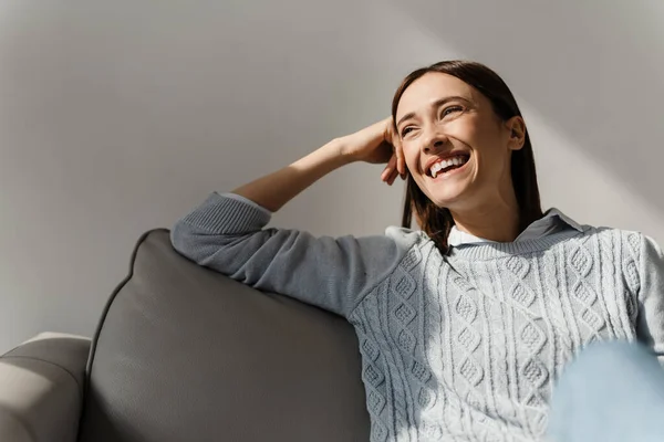
[[[544,213],[542,218],[540,218],[537,221],[533,221],[530,225],[528,225],[528,228],[526,228],[526,230],[522,231],[519,236],[517,236],[515,242],[541,239],[566,229],[575,229],[580,232],[583,232],[583,227],[581,224],[567,217],[560,210],[550,209]],[[452,230],[449,231],[449,236],[447,236],[447,244],[452,248],[491,242],[495,241],[485,240],[484,238],[478,238],[471,235],[470,233],[463,232],[459,229],[457,229],[456,225],[452,228]]]

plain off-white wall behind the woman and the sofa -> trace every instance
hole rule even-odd
[[[0,0],[0,351],[92,334],[143,231],[386,116],[444,59],[518,95],[546,206],[664,241],[663,19],[657,0]],[[398,223],[380,171],[335,172],[274,224]]]

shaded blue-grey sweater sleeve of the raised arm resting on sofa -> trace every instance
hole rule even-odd
[[[210,194],[172,230],[184,256],[255,288],[292,296],[347,316],[364,292],[387,277],[417,232],[314,238],[266,229],[271,213],[242,197]]]

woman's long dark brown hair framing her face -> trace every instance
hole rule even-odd
[[[513,116],[521,116],[521,110],[519,110],[511,91],[497,73],[480,63],[455,60],[418,69],[404,78],[392,101],[392,117],[395,122],[396,108],[406,88],[429,72],[455,76],[475,87],[489,99],[494,112],[504,122]],[[526,131],[523,147],[512,151],[511,179],[519,204],[519,231],[523,231],[532,221],[542,217],[535,156],[528,131]],[[402,218],[403,227],[411,228],[413,214],[415,214],[421,229],[434,240],[443,253],[447,253],[447,236],[454,225],[452,213],[448,209],[434,204],[408,175]]]

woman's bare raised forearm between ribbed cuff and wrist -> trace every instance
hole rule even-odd
[[[304,189],[331,171],[352,162],[342,154],[341,140],[332,140],[273,173],[232,191],[276,212]]]

